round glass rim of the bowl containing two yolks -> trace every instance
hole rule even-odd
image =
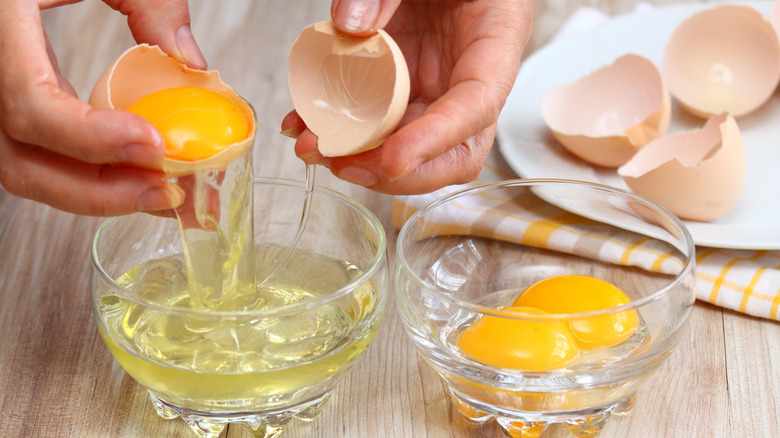
[[[664,287],[658,289],[657,291],[653,292],[650,295],[641,297],[637,300],[633,300],[626,304],[621,304],[618,306],[612,306],[608,307],[606,309],[599,309],[599,310],[591,310],[587,312],[573,312],[573,313],[548,313],[548,314],[537,314],[537,313],[527,313],[527,312],[515,312],[515,311],[505,311],[501,309],[494,309],[484,306],[479,306],[472,304],[468,301],[461,300],[459,298],[455,298],[449,295],[446,295],[442,293],[438,288],[432,287],[430,284],[425,282],[422,278],[420,278],[414,270],[411,269],[409,262],[407,261],[405,257],[405,251],[404,251],[404,240],[406,235],[409,233],[409,229],[412,227],[412,225],[427,212],[436,209],[437,207],[441,206],[442,204],[445,204],[447,202],[453,201],[455,199],[463,198],[466,196],[470,196],[476,193],[489,191],[496,188],[506,188],[506,187],[533,187],[533,186],[543,186],[543,185],[561,185],[561,186],[578,186],[578,187],[585,187],[588,189],[596,189],[600,191],[609,192],[612,195],[618,195],[620,197],[629,197],[634,199],[635,201],[639,201],[645,205],[648,205],[659,212],[663,213],[665,216],[667,216],[668,219],[674,223],[677,228],[680,230],[680,241],[682,243],[681,246],[683,246],[686,250],[688,250],[688,255],[685,259],[685,263],[683,264],[680,272],[675,275],[674,279],[671,280],[668,284],[666,284]],[[549,202],[549,201],[545,201]],[[637,195],[634,192],[630,192],[628,190],[623,190],[617,187],[608,186],[605,184],[599,184],[599,183],[593,183],[593,182],[587,182],[587,181],[579,181],[579,180],[572,180],[572,179],[564,179],[564,178],[518,178],[518,179],[509,179],[509,180],[502,180],[502,181],[495,181],[495,182],[489,182],[484,184],[479,184],[472,187],[463,188],[457,191],[454,191],[452,193],[446,194],[440,198],[437,198],[436,200],[430,202],[426,206],[420,208],[414,214],[412,214],[401,226],[401,229],[398,233],[397,238],[397,244],[395,249],[395,261],[397,268],[396,270],[403,269],[406,271],[415,282],[422,285],[423,289],[432,291],[435,295],[439,296],[441,299],[447,302],[452,302],[456,305],[458,305],[460,308],[468,309],[469,311],[474,311],[477,313],[480,313],[482,315],[489,315],[489,316],[495,316],[495,317],[501,317],[501,318],[509,318],[514,320],[525,320],[525,321],[571,321],[571,320],[584,320],[584,319],[591,319],[595,317],[602,317],[602,316],[609,316],[617,313],[622,313],[629,310],[636,310],[642,306],[645,306],[649,303],[652,303],[654,301],[662,299],[667,294],[671,293],[672,290],[675,289],[675,287],[683,281],[685,277],[687,277],[689,274],[693,274],[693,278],[695,281],[695,265],[696,265],[696,245],[693,242],[693,238],[691,237],[690,232],[688,231],[688,228],[683,224],[683,222],[674,215],[671,211],[669,211],[667,208],[659,205],[658,203],[651,201],[650,199],[647,199],[643,196]],[[693,287],[691,289],[693,290]]]

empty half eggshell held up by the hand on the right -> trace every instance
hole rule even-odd
[[[326,157],[379,146],[406,112],[409,70],[383,30],[354,38],[315,23],[293,43],[289,64],[293,104]]]

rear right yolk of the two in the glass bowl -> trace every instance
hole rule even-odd
[[[616,286],[587,275],[561,275],[529,286],[512,303],[549,313],[579,313],[626,304],[631,300]],[[639,325],[635,310],[569,322],[582,349],[611,347],[628,339]]]

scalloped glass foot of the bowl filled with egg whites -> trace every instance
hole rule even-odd
[[[179,407],[161,399],[151,391],[154,409],[162,418],[172,420],[181,417],[195,434],[201,438],[217,438],[228,424],[246,426],[252,436],[257,438],[274,438],[279,436],[287,423],[293,418],[303,421],[313,420],[325,407],[332,391],[311,400],[293,406],[268,409],[256,412],[197,412]]]

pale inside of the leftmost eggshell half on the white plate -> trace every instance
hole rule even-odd
[[[625,135],[664,103],[665,88],[656,67],[637,55],[577,81],[556,87],[545,96],[542,113],[550,129],[568,135]]]

